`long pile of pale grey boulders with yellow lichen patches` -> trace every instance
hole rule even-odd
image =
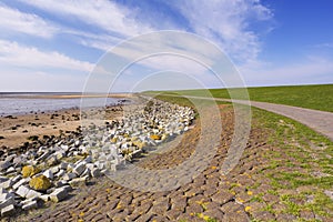
[[[0,157],[1,216],[64,200],[73,189],[115,171],[145,148],[189,130],[194,111],[150,100],[127,105],[120,120],[91,124],[75,137]]]

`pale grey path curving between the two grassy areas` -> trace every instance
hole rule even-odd
[[[189,97],[189,98],[205,99],[205,100],[208,99],[204,97]],[[218,99],[218,98],[214,99],[216,101],[231,102],[231,100],[228,99]],[[233,100],[232,102],[241,103],[241,104],[250,104],[249,101],[244,101],[244,100]],[[333,141],[333,113],[332,112],[324,112],[324,111],[291,107],[285,104],[273,104],[268,102],[255,102],[255,101],[251,101],[251,105],[296,120],[300,123],[305,124],[309,128],[315,130],[316,132],[326,135],[327,138],[330,138],[330,140]]]

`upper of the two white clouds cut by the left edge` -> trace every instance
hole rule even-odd
[[[36,14],[24,13],[2,4],[0,4],[0,21],[2,33],[13,31],[50,38],[58,31],[49,21],[47,22]]]

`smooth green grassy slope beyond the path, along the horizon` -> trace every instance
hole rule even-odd
[[[231,89],[238,91],[238,89]],[[226,89],[211,89],[215,98],[229,99]],[[293,85],[293,87],[262,87],[249,88],[250,99],[253,101],[289,104],[294,107],[333,112],[333,84]],[[189,95],[202,95],[202,90],[179,91]],[[243,98],[234,98],[243,99]]]

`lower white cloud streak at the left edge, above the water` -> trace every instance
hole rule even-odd
[[[43,52],[33,47],[20,46],[17,42],[0,40],[1,67],[56,68],[89,72],[93,64],[74,60],[57,51]]]

